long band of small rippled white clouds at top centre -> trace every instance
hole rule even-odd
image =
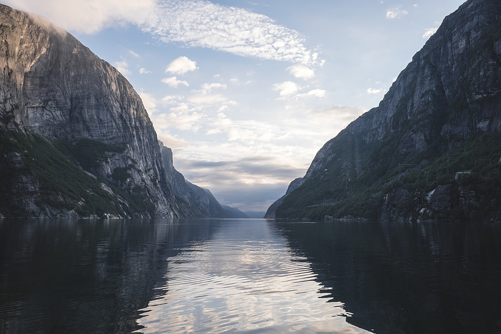
[[[243,57],[317,64],[300,33],[269,17],[201,0],[164,0],[142,25],[165,43],[202,47]]]

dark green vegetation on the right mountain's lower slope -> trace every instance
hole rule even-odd
[[[277,217],[323,219],[330,215],[376,219],[385,196],[391,201],[397,190],[408,195],[398,202],[391,218],[417,217],[416,210],[426,207],[426,196],[439,185],[452,185],[451,207],[447,213],[435,210],[429,218],[481,220],[501,208],[501,164],[498,163],[501,134],[486,134],[465,141],[447,153],[439,152],[437,140],[409,158],[392,154],[396,149],[392,142],[365,147],[366,159],[362,158],[360,163],[365,173],[357,177],[356,169],[348,166],[355,164],[355,158],[346,156],[353,152],[350,141],[338,139],[333,153],[337,153],[335,158],[340,160],[333,159],[326,165],[327,171],[315,175],[286,197],[277,210]],[[367,159],[367,155],[372,159]],[[371,173],[367,173],[368,170]],[[456,179],[456,173],[461,171],[468,173],[457,174]],[[461,203],[459,191],[474,192],[474,198]],[[342,198],[342,201],[330,206],[312,206],[315,200],[330,198]]]

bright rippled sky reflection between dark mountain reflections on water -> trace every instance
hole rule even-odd
[[[265,220],[223,222],[166,261],[141,332],[367,332],[346,322],[343,304],[326,298],[311,264]]]

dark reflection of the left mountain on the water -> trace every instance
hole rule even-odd
[[[0,332],[130,333],[165,258],[213,222],[0,220]]]

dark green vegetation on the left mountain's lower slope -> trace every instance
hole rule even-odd
[[[56,210],[75,210],[82,217],[91,215],[104,217],[133,216],[152,211],[155,205],[148,199],[145,189],[138,185],[120,188],[125,171],[114,170],[117,180],[109,182],[103,177],[94,178],[82,168],[91,170],[100,162],[107,161],[106,152],[121,153],[123,147],[115,147],[96,140],[81,139],[76,143],[50,143],[43,137],[28,132],[0,129],[0,213],[9,217],[29,217],[22,203],[26,194],[16,193],[13,184],[21,177],[34,179],[39,194],[36,205],[44,210],[46,207]],[[24,166],[9,166],[7,154],[21,154]],[[79,165],[82,167],[80,168]],[[102,184],[110,187],[114,194],[104,190]],[[123,207],[123,200],[128,203]]]

